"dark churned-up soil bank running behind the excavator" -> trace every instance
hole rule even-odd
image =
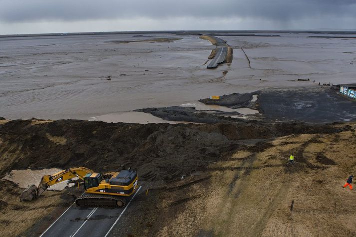
[[[205,167],[236,146],[241,139],[268,139],[300,133],[332,133],[350,126],[306,124],[125,124],[81,120],[58,120],[32,124],[9,121],[0,126],[0,152],[6,162],[1,174],[12,169],[67,168],[87,166],[101,171],[103,166],[121,165],[157,177],[178,178],[190,167]],[[148,167],[151,161],[160,167]],[[0,161],[1,162],[1,161]],[[178,165],[183,162],[182,165]],[[178,163],[178,164],[176,164]],[[174,172],[169,169],[174,167]]]

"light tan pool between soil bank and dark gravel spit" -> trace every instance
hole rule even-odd
[[[147,124],[147,123],[170,123],[170,124],[177,124],[177,123],[192,123],[192,122],[185,122],[185,121],[169,121],[163,120],[152,114],[144,113],[144,112],[119,112],[119,113],[112,113],[112,114],[104,114],[96,117],[92,117],[88,119],[89,121],[103,121],[106,123],[140,123],[140,124]]]

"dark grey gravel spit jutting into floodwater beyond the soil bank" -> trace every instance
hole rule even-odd
[[[197,123],[239,122],[246,119],[263,122],[298,121],[308,123],[332,123],[355,121],[356,103],[339,92],[337,86],[303,86],[266,88],[251,93],[221,95],[220,99],[200,99],[207,105],[219,105],[232,109],[249,108],[259,114],[243,116],[239,112],[199,110],[194,107],[145,108],[135,111],[150,113],[164,120]],[[254,95],[257,97],[253,99]]]

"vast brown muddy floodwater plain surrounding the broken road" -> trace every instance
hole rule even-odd
[[[355,39],[279,34],[219,36],[234,47],[233,61],[214,70],[207,70],[205,62],[215,46],[195,35],[179,35],[182,39],[174,42],[139,43],[114,41],[177,35],[0,38],[0,116],[90,119],[179,106],[211,95],[355,80]],[[246,52],[251,68],[239,48]]]

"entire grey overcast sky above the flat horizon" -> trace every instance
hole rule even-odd
[[[356,0],[0,0],[0,34],[356,29]]]

